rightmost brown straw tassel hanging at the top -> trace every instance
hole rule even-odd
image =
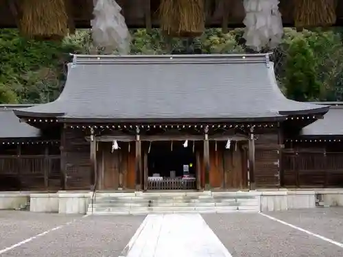
[[[337,0],[294,0],[296,27],[318,27],[336,22]]]

